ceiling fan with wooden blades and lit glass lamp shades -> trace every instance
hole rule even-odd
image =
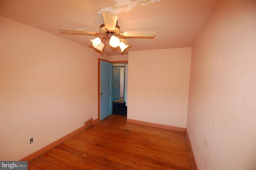
[[[124,38],[146,38],[154,37],[156,32],[154,30],[146,31],[120,31],[120,27],[117,25],[117,16],[111,12],[102,12],[104,24],[100,25],[100,32],[90,32],[84,30],[70,30],[60,28],[61,34],[72,34],[72,35],[93,35],[98,36],[93,40],[92,46],[102,52],[103,48],[116,48],[119,46],[121,52],[126,48],[132,46],[131,43],[124,40]]]

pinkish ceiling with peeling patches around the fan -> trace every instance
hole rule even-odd
[[[0,0],[0,15],[92,48],[94,36],[64,35],[59,28],[99,32],[102,11],[118,15],[120,31],[155,30],[154,38],[126,38],[129,51],[190,47],[219,0]],[[106,50],[105,50],[106,51]],[[116,52],[115,52],[116,51]],[[95,52],[99,52],[95,50]],[[121,55],[118,48],[112,55]]]

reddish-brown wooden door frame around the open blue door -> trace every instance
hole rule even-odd
[[[100,94],[100,60],[102,60],[102,61],[106,61],[106,62],[110,62],[110,63],[124,63],[124,64],[126,64],[126,63],[128,63],[128,61],[108,61],[108,60],[104,60],[104,59],[101,59],[101,58],[98,58],[98,121],[100,121],[100,96],[101,96],[101,94]]]

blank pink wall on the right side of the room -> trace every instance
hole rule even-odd
[[[198,170],[255,170],[256,1],[222,0],[192,46],[187,130]]]

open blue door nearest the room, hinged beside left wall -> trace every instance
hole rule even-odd
[[[112,114],[113,64],[100,60],[100,121]]]

